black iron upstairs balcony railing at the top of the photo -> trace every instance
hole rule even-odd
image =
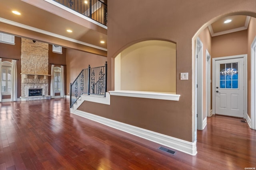
[[[108,8],[104,0],[54,0],[103,25],[107,25]]]

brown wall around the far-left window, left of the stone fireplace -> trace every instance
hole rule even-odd
[[[10,59],[2,59],[2,61],[9,61],[12,62],[12,59],[17,60],[17,97],[21,96],[21,38],[15,37],[14,39],[15,45],[9,45],[0,43],[0,57],[6,57]],[[3,99],[10,99],[11,96],[3,96]]]

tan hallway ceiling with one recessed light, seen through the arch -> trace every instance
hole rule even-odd
[[[224,23],[226,20],[232,20],[229,23]],[[250,21],[249,16],[228,16],[215,21],[208,26],[212,37],[242,31],[248,28]]]

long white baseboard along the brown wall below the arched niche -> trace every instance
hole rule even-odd
[[[80,110],[70,110],[71,113],[84,117],[86,119],[90,119],[92,121],[96,121],[98,123],[102,123],[104,125],[107,125],[109,127],[113,127],[115,129],[124,131],[126,133],[130,133],[132,135],[147,139],[149,141],[158,143],[160,145],[164,145],[166,147],[170,147],[172,149],[176,149],[179,150],[181,152],[190,154],[190,155],[196,155],[197,151],[196,151],[196,141],[195,142],[188,142],[188,141],[184,141],[182,139],[178,139],[178,138],[174,138],[174,137],[170,137],[167,135],[163,135],[160,133],[156,133],[153,131],[149,131],[146,129],[142,129],[139,127],[135,127],[132,125],[128,125],[125,123],[121,123],[118,121],[114,121],[111,119],[107,119],[105,117],[100,117],[91,113],[86,113],[84,111],[80,111]]]

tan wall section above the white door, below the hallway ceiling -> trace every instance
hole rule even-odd
[[[212,58],[247,54],[247,30],[212,37]]]

